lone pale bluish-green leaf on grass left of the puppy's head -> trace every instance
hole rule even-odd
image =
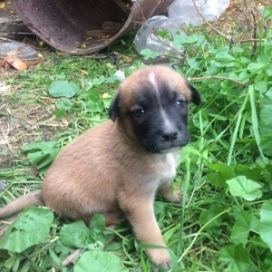
[[[71,98],[80,92],[80,88],[75,83],[68,83],[67,81],[56,81],[50,84],[48,91],[53,97]]]

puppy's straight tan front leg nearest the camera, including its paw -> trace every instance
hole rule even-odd
[[[127,200],[125,207],[121,208],[130,220],[135,235],[142,244],[166,247],[155,219],[152,198],[133,197],[133,199]],[[170,255],[166,249],[148,248],[146,252],[156,265],[163,268],[171,267]],[[153,270],[157,271],[158,269]]]

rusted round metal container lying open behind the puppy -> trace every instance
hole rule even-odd
[[[95,53],[131,33],[173,0],[13,0],[24,24],[55,49]]]

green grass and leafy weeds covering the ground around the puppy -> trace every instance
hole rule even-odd
[[[203,105],[190,110],[191,142],[181,151],[174,180],[174,187],[183,189],[188,197],[177,206],[158,196],[154,205],[173,263],[178,266],[173,271],[272,271],[272,41],[271,30],[263,28],[271,17],[271,9],[265,9],[254,50],[251,42],[229,44],[205,28],[199,28],[200,34],[191,33],[192,39],[184,34],[175,38],[189,55],[180,60],[179,71],[192,79]],[[112,46],[130,57],[130,39]],[[130,70],[140,65],[136,63]],[[1,97],[7,107],[0,113],[15,132],[9,138],[13,152],[7,146],[0,149],[4,158],[0,179],[7,184],[0,193],[2,206],[24,191],[39,188],[55,154],[108,118],[106,110],[118,85],[112,76],[115,70],[111,60],[49,53],[43,63],[5,80],[14,92]],[[56,81],[75,83],[80,92],[70,98],[53,97],[48,90]],[[7,108],[11,114],[5,112]],[[16,129],[22,120],[24,126]],[[44,141],[53,143],[43,150]],[[23,143],[29,144],[24,151],[20,149]],[[41,157],[40,151],[46,151],[46,156]],[[41,220],[40,214],[52,218],[44,223],[49,229],[41,234],[44,239],[32,242],[30,236],[29,247],[17,251],[13,248],[20,245],[18,239],[10,239],[11,244],[2,240],[1,271],[46,271],[60,265],[76,248],[81,250],[83,266],[90,259],[106,266],[109,256],[105,252],[109,252],[118,257],[112,262],[123,266],[123,271],[151,271],[145,246],[134,239],[129,223],[102,230],[102,219],[97,218],[93,224],[99,223],[101,228],[95,236],[93,228],[52,217],[47,209],[27,209],[22,217],[28,217],[31,229]],[[10,231],[20,228],[18,220]],[[67,228],[74,235],[90,233],[88,245],[81,238],[76,245],[68,242]],[[103,249],[102,255],[97,257],[93,248]],[[79,263],[62,267],[62,271],[73,269],[80,271]]]

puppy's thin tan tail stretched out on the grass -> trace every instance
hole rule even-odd
[[[15,199],[14,201],[11,201],[4,208],[0,209],[0,219],[5,218],[10,214],[13,214],[21,209],[24,209],[32,205],[34,206],[44,205],[41,190],[34,191],[18,199]]]

